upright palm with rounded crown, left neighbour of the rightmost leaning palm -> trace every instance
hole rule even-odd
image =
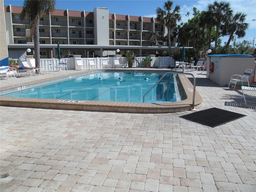
[[[208,4],[208,12],[214,18],[215,31],[215,47],[217,47],[219,29],[222,24],[225,24],[230,20],[233,11],[230,8],[229,2],[214,1],[213,4]]]

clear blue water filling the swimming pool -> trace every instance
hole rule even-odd
[[[164,72],[142,71],[96,72],[2,96],[60,100],[143,102],[143,95],[163,74]],[[186,99],[186,94],[178,76],[168,74],[145,96],[144,102],[176,102],[184,99]]]

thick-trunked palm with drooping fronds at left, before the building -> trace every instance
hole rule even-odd
[[[28,16],[30,21],[32,39],[34,39],[36,66],[40,64],[39,20],[44,14],[49,14],[55,10],[55,2],[55,0],[24,0],[20,16],[22,19]]]

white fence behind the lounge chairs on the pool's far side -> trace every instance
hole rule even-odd
[[[142,60],[145,57],[136,57],[136,59],[138,60],[138,62],[134,62],[132,67],[136,68],[136,67],[144,67],[145,65],[142,63]],[[94,61],[95,66],[92,66],[89,64],[89,60]],[[102,69],[102,68],[106,68],[106,66],[103,65],[102,60],[103,59],[107,59],[108,60],[108,64],[111,66],[111,68],[115,68],[114,65],[114,58],[113,57],[104,57],[104,58],[81,58],[82,60],[82,70],[90,70],[93,68],[96,69]],[[58,66],[59,63],[66,63],[68,70],[74,70],[76,69],[76,61],[74,60],[74,58],[62,58],[60,59],[60,61],[58,60],[58,58],[47,58],[47,59],[40,59],[40,67],[41,68],[45,68],[46,71],[50,70],[50,65],[52,66]],[[128,68],[128,64],[126,63],[126,57],[121,57],[119,58],[119,62],[120,64],[124,64],[124,67]],[[174,59],[172,57],[155,57],[154,59],[154,64],[151,64],[152,67],[156,67],[156,68],[168,68],[168,66],[174,66]]]

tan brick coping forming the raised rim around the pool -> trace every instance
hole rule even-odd
[[[102,69],[113,70],[113,69]],[[1,87],[0,91],[7,91],[10,89],[17,88],[32,88],[32,86],[38,86],[38,84],[60,81],[67,78],[74,78],[81,74],[88,74],[98,70],[90,71],[78,71],[74,74],[66,74],[53,78],[46,78],[44,80],[37,80],[34,82],[28,82],[18,84],[14,86]],[[116,69],[114,69],[116,70]],[[128,68],[121,70],[137,70],[142,71],[138,68]],[[143,71],[161,71],[170,72],[170,70],[157,70],[157,69],[143,69]],[[27,108],[46,108],[46,109],[61,109],[61,110],[84,110],[84,111],[102,111],[102,112],[126,112],[126,113],[173,113],[182,112],[192,109],[192,96],[193,85],[186,76],[186,74],[179,73],[178,76],[182,82],[187,99],[178,102],[162,102],[162,103],[134,103],[134,102],[107,102],[107,101],[88,101],[88,100],[60,100],[60,99],[38,99],[38,98],[13,98],[13,97],[0,97],[1,106],[12,106],[12,107],[27,107]],[[184,78],[183,78],[184,77]],[[199,108],[203,102],[202,97],[196,91],[194,108]]]

